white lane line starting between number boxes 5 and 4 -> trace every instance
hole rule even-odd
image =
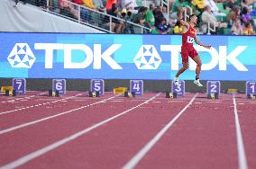
[[[39,122],[44,121],[44,120],[50,120],[50,119],[59,117],[59,116],[64,115],[64,114],[68,114],[69,112],[72,112],[72,111],[78,111],[78,110],[84,109],[84,108],[86,108],[86,107],[89,107],[89,106],[92,106],[92,105],[96,105],[96,104],[101,103],[101,102],[108,101],[108,100],[113,99],[114,97],[115,97],[115,96],[110,97],[110,98],[107,98],[107,99],[102,100],[102,101],[99,101],[99,102],[94,102],[94,103],[91,103],[91,104],[87,104],[87,105],[85,105],[85,106],[81,106],[81,107],[79,107],[79,108],[72,109],[72,110],[69,110],[69,111],[59,112],[58,114],[55,114],[55,115],[52,115],[52,116],[48,116],[48,117],[42,118],[42,119],[40,119],[40,120],[33,120],[33,121],[31,121],[31,122],[23,123],[23,124],[21,124],[21,125],[14,126],[14,127],[12,127],[12,128],[9,128],[9,129],[3,129],[3,130],[0,130],[0,135],[1,135],[1,134],[5,134],[5,133],[7,133],[7,132],[14,131],[15,129],[22,129],[22,128],[31,126],[31,125],[33,125],[33,124],[39,123]]]

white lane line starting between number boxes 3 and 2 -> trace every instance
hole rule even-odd
[[[128,161],[125,165],[123,165],[123,169],[131,169],[131,168],[134,168],[135,165],[137,165],[143,158],[143,156],[145,156],[150,150],[151,148],[160,140],[160,138],[165,134],[165,132],[172,126],[172,124],[178,120],[179,116],[182,115],[182,113],[184,111],[187,110],[187,108],[189,107],[189,105],[192,104],[192,102],[194,102],[194,100],[196,99],[197,97],[197,94],[196,93],[194,95],[194,97],[190,100],[190,102],[187,103],[187,105],[181,110],[178,112],[178,115],[175,116],[175,118],[173,118],[172,120],[169,121],[169,123],[163,128],[160,130],[160,132],[158,132],[154,138],[152,138],[144,147],[142,147],[142,149],[135,155],[133,156],[133,158]]]

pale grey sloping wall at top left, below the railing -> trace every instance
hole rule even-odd
[[[55,14],[45,13],[31,4],[20,3],[14,7],[14,1],[11,0],[1,0],[0,19],[0,31],[105,33]]]

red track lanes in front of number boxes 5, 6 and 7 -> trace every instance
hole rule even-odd
[[[78,94],[80,93],[73,92],[68,93],[65,97],[33,98],[32,100],[29,100],[27,102],[21,102],[19,104],[19,107],[14,107],[13,110],[10,110],[10,108],[8,108],[8,104],[6,104],[5,107],[7,108],[5,109],[9,110],[0,111],[0,129],[8,129],[12,126],[21,125],[25,122],[39,120],[41,118],[49,117],[52,115],[57,115],[61,112],[74,110],[83,105],[87,105],[93,102],[99,102],[107,97],[113,96],[110,93],[106,93],[104,97],[89,100],[87,97],[83,95],[76,96]],[[19,110],[20,108],[25,109]]]

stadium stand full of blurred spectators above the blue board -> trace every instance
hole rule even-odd
[[[191,13],[199,34],[254,35],[256,28],[256,0],[20,1],[109,33],[178,34]]]

